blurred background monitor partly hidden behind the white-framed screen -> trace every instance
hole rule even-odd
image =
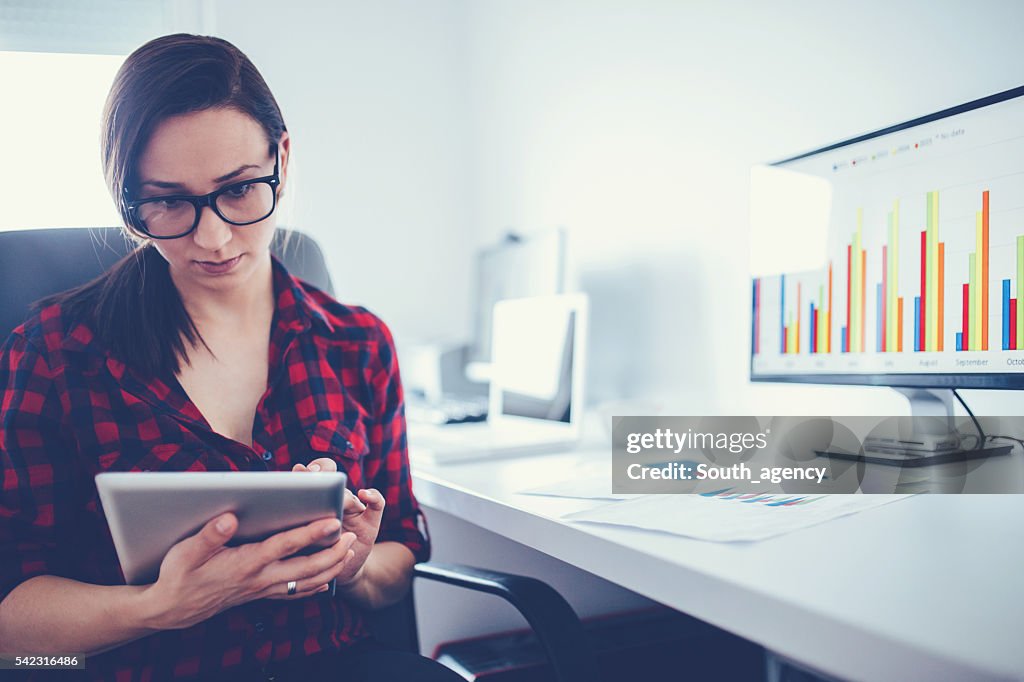
[[[565,230],[560,227],[509,232],[499,244],[479,252],[469,361],[490,361],[495,303],[565,293]]]

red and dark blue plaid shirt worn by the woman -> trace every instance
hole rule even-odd
[[[276,308],[253,447],[214,432],[174,377],[138,375],[39,310],[0,349],[0,600],[34,576],[124,585],[99,507],[102,471],[289,471],[331,457],[351,489],[387,501],[378,542],[429,554],[413,497],[402,390],[388,328],[291,276],[273,260]],[[150,680],[342,649],[367,635],[359,610],[328,593],[259,600],[186,630],[91,656],[89,677]]]

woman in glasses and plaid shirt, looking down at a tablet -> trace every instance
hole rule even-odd
[[[262,77],[223,40],[166,36],[127,58],[103,120],[139,246],[0,350],[0,650],[84,652],[95,679],[460,679],[362,623],[429,552],[394,344],[270,254],[291,140]],[[93,483],[339,466],[357,495],[332,547],[288,558],[337,519],[227,548],[224,514],[144,587],[124,585]]]

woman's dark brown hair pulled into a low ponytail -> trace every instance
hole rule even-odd
[[[187,361],[185,342],[193,347],[206,343],[167,261],[148,239],[131,229],[125,193],[134,195],[138,159],[161,122],[214,108],[251,116],[263,128],[271,154],[287,130],[263,77],[226,40],[164,36],[125,59],[103,108],[100,152],[106,185],[135,249],[95,280],[36,303],[60,303],[72,324],[88,323],[101,346],[151,376],[176,374],[181,361]]]

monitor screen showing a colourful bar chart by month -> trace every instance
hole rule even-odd
[[[1024,87],[755,169],[751,217],[753,380],[1024,388]]]

